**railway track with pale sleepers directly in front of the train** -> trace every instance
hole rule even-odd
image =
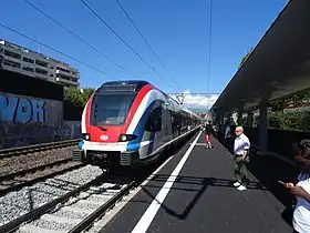
[[[82,232],[136,186],[102,174],[2,226],[0,232]]]

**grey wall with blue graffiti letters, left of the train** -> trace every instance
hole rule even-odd
[[[0,149],[58,141],[66,134],[62,101],[0,92]]]

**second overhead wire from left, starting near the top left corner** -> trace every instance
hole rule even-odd
[[[105,59],[107,59],[108,61],[111,61],[113,64],[115,64],[116,67],[118,67],[120,69],[122,69],[123,71],[125,71],[127,74],[131,74],[134,78],[137,78],[136,75],[132,74],[131,72],[128,72],[122,64],[117,63],[116,61],[114,61],[112,58],[110,58],[108,55],[104,54],[101,50],[99,50],[97,48],[95,48],[94,45],[90,44],[87,41],[85,41],[84,39],[82,39],[80,36],[78,36],[76,33],[74,33],[73,31],[71,31],[70,29],[68,29],[66,27],[64,27],[63,24],[61,24],[60,22],[58,22],[55,19],[53,19],[51,16],[49,16],[48,13],[45,13],[43,10],[39,9],[37,6],[34,6],[33,3],[31,3],[28,0],[24,0],[24,2],[27,4],[29,4],[30,7],[32,7],[34,10],[37,10],[38,12],[40,12],[41,14],[43,14],[44,17],[46,17],[49,20],[51,20],[52,22],[54,22],[55,24],[58,24],[59,27],[61,27],[63,30],[65,30],[68,33],[70,33],[71,36],[73,36],[74,38],[76,38],[78,40],[80,40],[81,42],[83,42],[84,44],[86,44],[89,48],[93,49],[94,51],[96,51],[99,54],[101,54],[102,57],[104,57]]]

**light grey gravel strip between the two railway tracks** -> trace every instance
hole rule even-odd
[[[94,180],[101,174],[102,170],[100,168],[86,165],[1,196],[0,226]]]

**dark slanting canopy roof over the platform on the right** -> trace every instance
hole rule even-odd
[[[310,1],[290,0],[211,109],[247,109],[262,98],[272,100],[309,87]]]

